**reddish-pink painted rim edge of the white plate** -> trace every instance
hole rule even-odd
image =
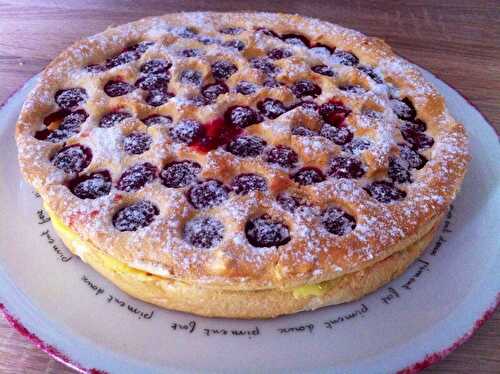
[[[442,83],[444,86],[449,88],[451,91],[453,91],[457,96],[459,96],[461,99],[463,99],[466,104],[470,107],[470,110],[476,112],[478,114],[484,123],[488,125],[488,127],[494,132],[496,135],[496,138],[498,139],[498,134],[493,127],[493,125],[486,119],[486,117],[478,110],[478,108],[471,103],[469,99],[467,99],[465,96],[461,94],[457,89],[455,89],[453,86],[450,84],[446,83],[442,79],[440,79],[438,76],[435,74],[429,72],[426,69],[421,68],[420,66],[416,65],[419,69],[423,70],[425,74],[428,74],[435,80],[439,81]],[[7,107],[11,102],[16,99],[18,95],[21,94],[21,92],[29,85],[31,84],[34,80],[36,80],[40,76],[40,73],[35,74],[28,80],[26,80],[21,87],[18,89],[14,90],[10,95],[7,96],[7,98],[0,104],[0,111],[2,111],[5,107]],[[483,126],[483,124],[481,124]],[[495,287],[495,286],[493,286]],[[430,353],[423,353],[421,359],[416,360],[413,363],[410,364],[405,364],[405,366],[401,368],[397,368],[395,372],[397,373],[417,373],[424,368],[433,365],[445,357],[447,357],[450,353],[455,351],[458,347],[460,347],[462,344],[464,344],[466,341],[468,341],[474,333],[484,325],[484,323],[494,314],[498,306],[500,305],[500,290],[498,289],[498,285],[496,285],[496,294],[495,290],[493,290],[493,297],[490,300],[488,297],[489,302],[486,303],[485,308],[481,308],[481,311],[475,312],[475,317],[472,321],[471,324],[468,324],[468,328],[465,330],[461,331],[461,334],[457,338],[452,338],[455,339],[451,343],[447,345],[443,345],[439,347],[439,349],[436,349],[434,352]],[[486,292],[486,291],[485,291]],[[23,295],[27,300],[29,298],[26,295]],[[489,295],[487,295],[489,296]],[[470,295],[469,295],[470,297]],[[4,298],[4,296],[3,296]],[[464,302],[467,300],[467,297],[464,298]],[[76,370],[77,372],[80,373],[89,373],[89,374],[101,374],[101,373],[107,373],[105,370],[101,370],[98,368],[86,368],[84,365],[82,365],[80,362],[72,359],[67,353],[64,353],[62,350],[60,350],[56,345],[54,344],[48,344],[46,343],[43,339],[41,339],[36,333],[31,331],[26,327],[26,325],[23,323],[23,319],[15,316],[11,311],[8,306],[10,300],[2,300],[0,299],[0,314],[4,316],[6,319],[7,323],[15,329],[18,333],[20,333],[22,336],[28,339],[28,341],[33,344],[35,347],[40,349],[41,351],[45,352],[48,354],[50,357],[55,359],[56,361],[66,365],[67,367]],[[484,304],[484,303],[483,303]],[[445,321],[441,321],[441,323],[444,323]],[[394,367],[397,367],[397,365],[394,365]],[[172,368],[174,369],[174,368]],[[318,368],[317,370],[322,370],[325,368]],[[174,369],[175,370],[175,369]]]

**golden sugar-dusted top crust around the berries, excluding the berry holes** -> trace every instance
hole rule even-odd
[[[189,28],[185,29],[186,26]],[[236,35],[219,32],[229,26],[242,31]],[[348,51],[357,56],[359,65],[346,66],[340,52],[334,56],[328,55],[325,48],[287,44],[280,38],[256,31],[260,27],[281,36],[301,34],[311,46],[321,44],[337,52]],[[207,39],[201,36],[220,42],[204,44],[200,40]],[[231,48],[230,45],[235,46],[232,40],[242,41],[244,48],[241,51]],[[145,41],[154,44],[127,63],[103,71],[89,72],[85,68],[101,64],[123,53],[127,47]],[[276,48],[290,50],[292,56],[271,61],[277,70],[274,78],[281,85],[270,88],[265,86],[269,77],[262,72],[266,68],[255,68],[251,61]],[[201,52],[195,57],[185,57],[198,52],[182,52],[184,50]],[[151,106],[145,102],[148,93],[139,88],[117,97],[104,92],[110,80],[133,85],[141,67],[151,59],[172,63],[168,90],[175,94],[174,98],[163,105]],[[221,60],[237,66],[237,71],[225,80],[229,92],[209,105],[196,106],[192,99],[199,95],[200,89],[182,83],[183,71],[196,70],[203,84],[213,83],[211,65]],[[330,66],[334,75],[313,72],[311,67],[318,65]],[[373,68],[372,78],[360,65]],[[325,136],[292,135],[291,128],[297,123],[320,132],[321,115],[302,107],[243,129],[245,135],[264,139],[267,148],[291,147],[298,155],[299,166],[288,170],[265,162],[263,155],[241,158],[224,147],[208,153],[197,152],[192,146],[174,142],[167,126],[147,127],[141,121],[161,114],[172,117],[170,127],[184,119],[206,124],[221,118],[235,105],[256,110],[257,104],[266,98],[280,100],[289,108],[301,100],[290,88],[304,79],[321,87],[321,94],[314,98],[316,103],[324,104],[334,98],[349,108],[351,112],[345,118],[347,127],[355,138],[369,140],[370,147],[356,155],[363,163],[362,177],[328,177],[321,183],[305,186],[290,178],[297,169],[308,166],[327,173],[332,158],[345,154],[341,146]],[[379,79],[382,83],[376,82]],[[253,82],[258,90],[250,95],[236,93],[236,85],[243,80]],[[353,85],[364,90],[349,89]],[[63,147],[62,142],[35,138],[37,131],[47,130],[44,119],[60,109],[54,95],[74,87],[85,89],[87,98],[80,107],[88,113],[88,118],[79,132],[64,142],[91,149],[92,160],[83,174],[109,171],[113,188],[97,199],[80,199],[68,189],[75,175],[56,168],[53,161]],[[422,168],[411,170],[412,183],[395,184],[406,196],[381,202],[365,188],[374,181],[388,180],[390,160],[401,152],[398,144],[405,139],[399,130],[404,121],[391,109],[391,103],[398,104],[405,98],[413,104],[418,120],[425,122],[426,136],[432,137],[433,145],[419,150],[429,161]],[[111,128],[99,126],[103,115],[117,110],[126,110],[132,116]],[[413,121],[418,122],[415,118]],[[49,130],[53,130],[50,125]],[[147,133],[152,139],[149,150],[139,155],[123,151],[124,137],[134,131]],[[354,273],[402,251],[420,239],[422,227],[435,222],[447,210],[459,190],[469,159],[465,130],[448,113],[444,99],[415,66],[396,56],[382,40],[316,19],[270,13],[169,14],[110,28],[79,41],[43,72],[23,106],[16,140],[23,175],[50,209],[81,238],[132,267],[200,287],[212,287],[217,292],[314,284]],[[188,187],[166,188],[158,177],[138,191],[116,189],[122,173],[137,163],[149,162],[162,170],[176,160],[195,161],[202,168],[200,179],[215,178],[226,185],[239,174],[257,173],[265,178],[267,189],[246,195],[231,192],[208,209],[196,209],[189,203]],[[283,209],[276,202],[283,191],[299,194],[309,207],[294,213]],[[121,208],[141,200],[151,201],[158,208],[158,215],[147,227],[136,231],[117,230],[113,217]],[[332,206],[353,217],[354,230],[335,235],[325,229],[323,212]],[[290,240],[286,244],[271,247],[250,244],[245,234],[248,221],[263,214],[287,226]],[[191,245],[183,234],[186,224],[200,216],[216,218],[223,227],[222,239],[210,248]]]

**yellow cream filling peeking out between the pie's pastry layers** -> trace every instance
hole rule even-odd
[[[57,217],[57,215],[46,205],[44,204],[44,208],[47,211],[52,225],[57,233],[61,236],[64,242],[71,243],[73,249],[77,249],[77,255],[85,261],[85,254],[91,254],[96,257],[98,261],[100,261],[106,268],[111,269],[114,272],[127,274],[133,276],[137,280],[140,281],[152,281],[163,279],[157,275],[148,273],[143,270],[135,269],[127,264],[116,260],[110,255],[104,253],[100,249],[98,249],[92,243],[89,243],[86,240],[81,239],[77,233],[75,233],[71,228],[63,223],[63,221]],[[81,251],[78,251],[81,249]],[[290,291],[293,294],[293,297],[296,299],[307,298],[307,297],[318,297],[325,295],[330,289],[332,289],[334,283],[336,283],[339,279],[334,279],[331,281],[324,281],[318,284],[307,284],[301,287],[293,288]]]

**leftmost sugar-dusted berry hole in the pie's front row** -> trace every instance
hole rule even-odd
[[[118,231],[137,231],[149,226],[158,214],[160,211],[156,205],[151,201],[141,200],[116,212],[113,226]]]

